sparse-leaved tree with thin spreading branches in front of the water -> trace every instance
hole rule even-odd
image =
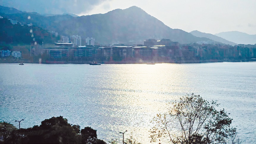
[[[208,102],[200,95],[183,96],[167,113],[153,118],[151,142],[168,137],[175,144],[225,143],[236,129],[230,128],[232,119],[224,109],[216,110],[218,106],[217,101]]]

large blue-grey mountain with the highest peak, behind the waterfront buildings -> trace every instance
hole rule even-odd
[[[181,29],[171,29],[160,20],[147,14],[139,7],[116,9],[105,14],[80,17],[54,15],[45,17],[37,13],[15,13],[3,15],[17,19],[23,24],[32,23],[61,35],[80,35],[82,39],[93,37],[100,44],[114,42],[143,44],[145,39],[171,39],[180,43],[208,41]],[[30,19],[27,19],[30,16]]]

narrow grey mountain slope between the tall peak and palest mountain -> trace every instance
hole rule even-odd
[[[196,37],[206,37],[206,38],[212,39],[212,40],[214,40],[216,42],[221,42],[221,43],[228,44],[228,45],[233,45],[233,46],[237,45],[234,42],[230,42],[230,41],[228,41],[226,39],[223,39],[223,38],[218,37],[218,36],[213,35],[213,34],[203,33],[203,32],[197,31],[197,30],[191,31],[190,33],[193,34]]]

